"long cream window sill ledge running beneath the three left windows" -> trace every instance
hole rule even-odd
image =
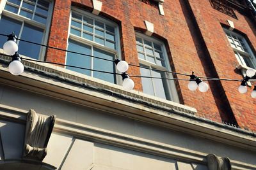
[[[10,57],[0,55],[0,62],[8,64],[8,62],[10,62]],[[129,103],[131,102],[134,104],[143,104],[146,107],[149,106],[164,111],[176,113],[179,112],[182,114],[192,115],[197,112],[195,108],[191,108],[189,106],[185,106],[183,104],[175,103],[172,101],[167,101],[159,97],[143,94],[142,92],[136,90],[126,91],[123,90],[120,85],[99,80],[97,78],[86,76],[81,73],[76,73],[63,67],[54,66],[53,64],[38,63],[28,60],[23,60],[22,62],[24,64],[25,71],[21,74],[21,76],[28,74],[26,76],[28,76],[28,78],[31,78],[31,73],[29,72],[41,74],[43,79],[45,79],[45,82],[47,80],[60,80],[58,81],[58,83],[56,83],[56,86],[61,84],[61,86],[65,87],[66,84],[71,84],[74,87],[77,85],[77,87],[75,88],[93,90],[93,92],[90,92],[90,94],[86,95],[99,97],[99,93],[104,93],[104,97],[106,97],[105,100],[111,100],[114,97],[115,99],[112,99],[110,102],[118,101],[122,103],[120,99],[123,99],[124,101],[129,101]],[[2,69],[3,71],[8,71],[7,67],[1,67],[0,69]],[[38,76],[35,76],[35,78],[37,77]]]

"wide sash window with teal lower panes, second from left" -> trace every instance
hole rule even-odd
[[[115,60],[120,48],[118,39],[117,24],[85,11],[77,9],[71,11],[68,50]],[[115,73],[114,62],[74,53],[67,53],[66,64]],[[116,76],[113,74],[73,67],[67,69],[116,83]]]

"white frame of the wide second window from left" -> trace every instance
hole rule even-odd
[[[71,28],[71,20],[72,20],[72,11],[74,11],[75,13],[79,13],[80,15],[86,15],[86,17],[88,17],[88,18],[92,18],[92,19],[95,19],[99,22],[103,22],[105,24],[111,25],[112,27],[115,27],[115,41],[116,41],[115,45],[116,45],[116,49],[112,49],[112,48],[109,48],[107,46],[96,43],[95,41],[90,41],[89,39],[82,38],[81,36],[76,36],[74,34],[71,34],[70,33],[70,28]],[[95,26],[93,26],[93,27],[95,27]],[[95,29],[93,29],[93,34],[95,34],[94,30]],[[72,6],[71,10],[70,10],[70,19],[69,19],[67,39],[72,39],[72,40],[77,41],[79,43],[83,43],[84,45],[92,46],[92,55],[93,55],[93,51],[94,51],[93,47],[96,47],[96,48],[99,48],[99,49],[104,50],[106,52],[115,54],[115,59],[120,59],[121,60],[121,58],[122,58],[121,57],[121,47],[120,47],[119,25],[116,24],[114,21],[108,20],[108,18],[104,18],[104,17],[100,17],[98,15],[94,15],[93,13],[81,10],[81,9],[76,8],[74,6]],[[67,41],[67,50],[68,50],[68,41]],[[115,59],[113,59],[113,60],[115,60]],[[66,57],[65,57],[65,64],[67,64],[67,53],[66,53]],[[91,66],[93,66],[93,60],[92,60],[91,64],[92,64]],[[114,70],[115,73],[118,73],[115,66],[114,66],[114,68],[115,68],[115,70]],[[93,71],[91,71],[90,76],[92,76],[92,78],[94,78],[93,77]],[[116,84],[122,85],[122,77],[121,76],[116,75],[115,80],[116,80]],[[102,81],[104,81],[104,80],[102,80]]]

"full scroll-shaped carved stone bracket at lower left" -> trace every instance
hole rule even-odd
[[[29,110],[24,139],[23,158],[42,161],[47,155],[47,144],[50,139],[56,116],[38,116],[35,110]]]

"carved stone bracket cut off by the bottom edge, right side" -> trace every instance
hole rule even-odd
[[[209,154],[206,158],[209,170],[231,170],[230,160],[227,157],[218,158],[214,154]]]

